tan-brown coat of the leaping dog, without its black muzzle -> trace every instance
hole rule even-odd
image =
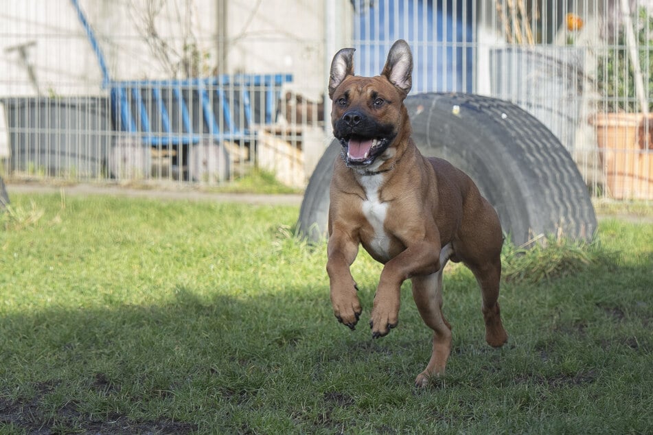
[[[442,316],[442,268],[448,259],[466,264],[481,286],[487,342],[501,346],[507,340],[497,302],[501,225],[466,174],[441,158],[425,158],[413,143],[403,104],[411,86],[408,45],[395,43],[382,75],[373,78],[353,75],[352,56],[351,49],[343,49],[332,63],[334,134],[341,139],[339,133],[347,130],[357,137],[358,126],[365,123],[393,129],[387,134],[392,137],[389,145],[373,163],[359,166],[345,162],[347,156],[334,163],[327,263],[331,301],[336,317],[354,329],[362,307],[350,266],[362,244],[385,264],[370,320],[378,338],[396,327],[400,285],[411,279],[417,309],[433,329],[431,360],[415,379],[425,386],[444,373],[450,353],[451,328]],[[365,131],[360,134],[367,136],[369,128]],[[347,139],[343,141],[346,145]],[[383,217],[382,231],[375,226],[377,217]]]

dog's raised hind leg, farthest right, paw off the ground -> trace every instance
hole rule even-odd
[[[483,320],[485,320],[485,341],[492,347],[500,347],[508,341],[508,334],[501,323],[499,308],[499,281],[501,280],[501,258],[484,263],[483,266],[470,267],[481,286],[483,297]]]

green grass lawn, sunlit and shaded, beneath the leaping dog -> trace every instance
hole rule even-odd
[[[325,246],[293,237],[297,207],[58,195],[11,207],[0,433],[653,431],[652,224],[602,221],[587,261],[505,281],[500,350],[483,342],[474,278],[449,268],[452,355],[417,390],[430,334],[407,286],[399,326],[371,340],[380,266],[361,252],[361,325],[339,325]]]

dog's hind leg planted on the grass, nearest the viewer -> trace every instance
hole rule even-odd
[[[417,375],[415,386],[428,385],[431,377],[444,374],[444,367],[451,352],[451,325],[442,316],[442,270],[427,276],[413,277],[413,299],[426,326],[433,329],[433,353],[426,368]]]

